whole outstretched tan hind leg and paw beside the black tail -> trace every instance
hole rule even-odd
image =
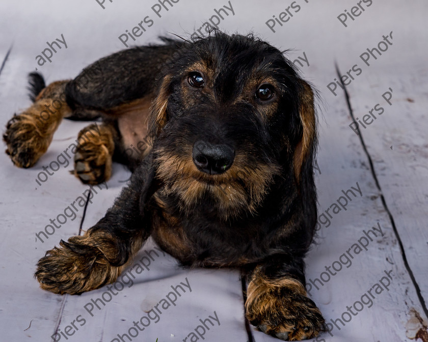
[[[3,140],[6,153],[16,166],[33,166],[47,151],[61,120],[71,114],[64,93],[67,82],[50,83],[32,106],[8,121]]]

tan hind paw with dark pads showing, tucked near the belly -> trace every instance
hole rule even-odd
[[[100,184],[112,175],[117,132],[110,124],[92,124],[78,134],[74,175],[85,184]]]

